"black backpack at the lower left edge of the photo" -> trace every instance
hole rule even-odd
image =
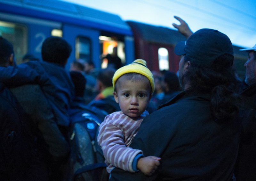
[[[28,180],[36,156],[34,137],[26,126],[31,121],[16,98],[0,83],[0,178]]]

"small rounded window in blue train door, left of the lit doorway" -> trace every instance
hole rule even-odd
[[[89,38],[82,36],[76,38],[76,59],[91,61],[91,41]]]

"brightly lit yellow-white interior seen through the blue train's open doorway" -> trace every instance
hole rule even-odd
[[[107,36],[100,36],[99,40],[102,46],[102,69],[108,67],[108,60],[105,57],[107,56],[107,54],[113,54],[114,47],[117,47],[117,56],[121,59],[122,64],[125,65],[124,42],[118,41],[116,38]]]

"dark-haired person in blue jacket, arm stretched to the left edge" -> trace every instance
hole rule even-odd
[[[39,84],[49,100],[58,125],[67,127],[67,110],[74,97],[74,85],[65,70],[71,47],[60,37],[49,37],[42,45],[42,62],[30,61],[18,66],[0,67],[0,80],[7,86]]]

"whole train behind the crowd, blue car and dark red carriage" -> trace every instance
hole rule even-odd
[[[14,45],[18,64],[26,53],[41,59],[42,42],[53,35],[72,46],[67,69],[79,58],[105,68],[104,57],[117,47],[123,64],[144,59],[148,68],[157,72],[178,70],[180,57],[173,49],[186,40],[176,30],[124,21],[115,14],[59,0],[0,0],[0,35]],[[234,67],[243,78],[247,53],[240,48],[234,46]]]

